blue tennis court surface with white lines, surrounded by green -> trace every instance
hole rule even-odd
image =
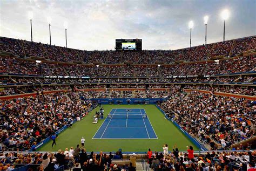
[[[113,108],[92,139],[158,139],[142,108]]]

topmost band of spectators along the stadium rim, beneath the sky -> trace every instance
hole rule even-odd
[[[132,61],[138,64],[151,64],[155,62],[164,62],[167,64],[178,60],[199,61],[206,60],[208,57],[225,56],[230,52],[235,56],[243,51],[255,49],[255,36],[225,42],[218,42],[208,45],[200,45],[179,50],[153,50],[153,51],[83,51],[47,45],[26,40],[18,40],[0,37],[0,50],[14,53],[24,57],[43,57],[54,61],[83,61],[84,63],[106,63],[120,64],[126,61]],[[23,52],[23,47],[24,50]],[[231,47],[233,45],[232,51]]]

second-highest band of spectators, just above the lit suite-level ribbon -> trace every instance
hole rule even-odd
[[[61,63],[36,63],[11,57],[0,57],[1,73],[38,74],[44,76],[87,76],[87,77],[172,77],[203,76],[220,73],[256,71],[255,55],[226,58],[218,63],[173,64],[161,66],[104,66]],[[140,79],[140,78],[138,78]]]

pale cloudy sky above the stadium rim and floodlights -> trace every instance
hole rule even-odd
[[[256,35],[256,0],[41,1],[1,0],[0,36],[80,50],[114,50],[115,39],[140,38],[144,50],[175,50],[190,46],[188,22],[193,20],[192,46],[223,40],[221,11],[228,9],[225,39]]]

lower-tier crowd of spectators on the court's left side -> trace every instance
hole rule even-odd
[[[91,109],[90,101],[78,97],[68,92],[3,101],[0,141],[10,148],[31,148]]]

